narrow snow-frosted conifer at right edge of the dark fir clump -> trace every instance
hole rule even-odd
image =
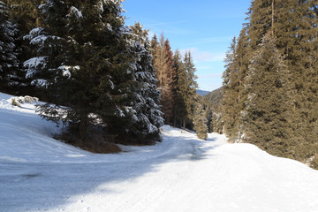
[[[136,85],[133,101],[133,125],[129,129],[129,140],[147,144],[160,140],[159,127],[163,125],[163,114],[159,108],[160,92],[156,89],[155,69],[150,55],[148,31],[143,30],[140,23],[133,27],[131,50],[134,52],[134,76]],[[125,139],[125,138],[123,138]]]

